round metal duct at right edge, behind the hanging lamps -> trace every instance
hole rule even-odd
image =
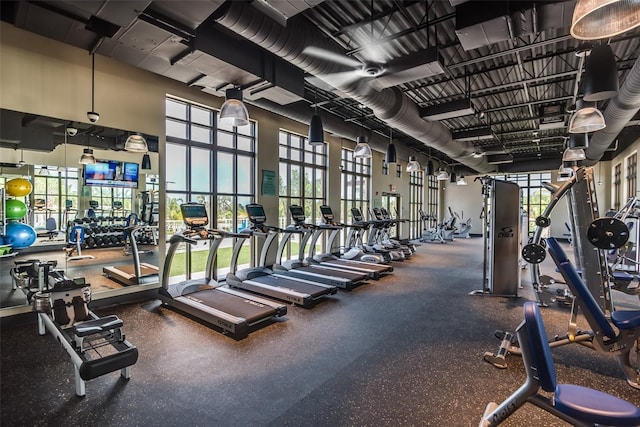
[[[627,78],[618,92],[611,99],[604,111],[607,127],[595,132],[585,150],[587,160],[583,164],[590,166],[598,162],[633,116],[640,110],[640,58],[633,64]]]

